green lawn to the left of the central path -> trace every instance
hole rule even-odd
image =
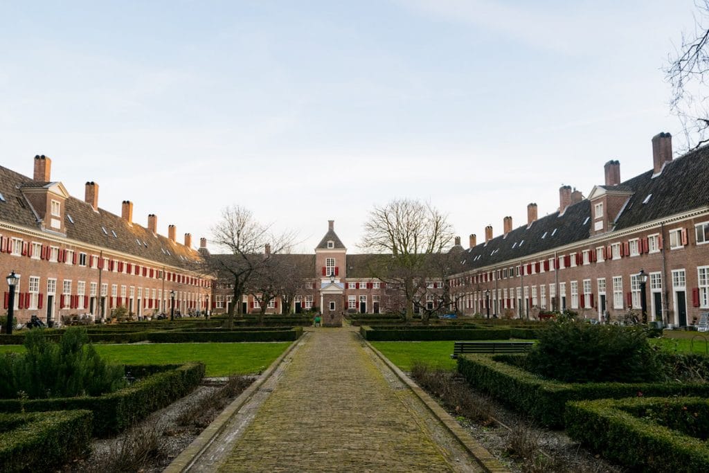
[[[114,363],[161,365],[201,361],[206,376],[253,374],[271,365],[291,342],[279,343],[149,343],[141,345],[94,345],[96,351]],[[1,352],[17,352],[24,347],[0,345]]]

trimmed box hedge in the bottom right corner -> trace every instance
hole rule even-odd
[[[683,412],[684,417],[690,417],[688,423],[700,423],[706,432],[708,410],[709,401],[700,398],[576,401],[566,404],[566,431],[574,440],[634,471],[706,472],[709,445],[681,430],[661,425],[648,413],[674,411],[675,417],[682,418]]]

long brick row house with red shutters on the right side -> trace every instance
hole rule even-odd
[[[557,212],[537,218],[529,204],[525,225],[505,217],[501,235],[470,235],[466,270],[449,281],[457,308],[520,318],[569,308],[603,320],[639,312],[644,296],[649,320],[696,323],[709,311],[709,148],[673,160],[660,133],[652,157],[625,182],[608,161],[588,197],[562,186]]]

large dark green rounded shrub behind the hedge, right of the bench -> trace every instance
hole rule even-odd
[[[642,328],[559,321],[538,333],[528,369],[565,382],[647,382],[660,365]]]

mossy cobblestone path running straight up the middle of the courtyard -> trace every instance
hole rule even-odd
[[[356,332],[308,337],[220,471],[461,470],[403,399],[411,391],[391,386]]]

